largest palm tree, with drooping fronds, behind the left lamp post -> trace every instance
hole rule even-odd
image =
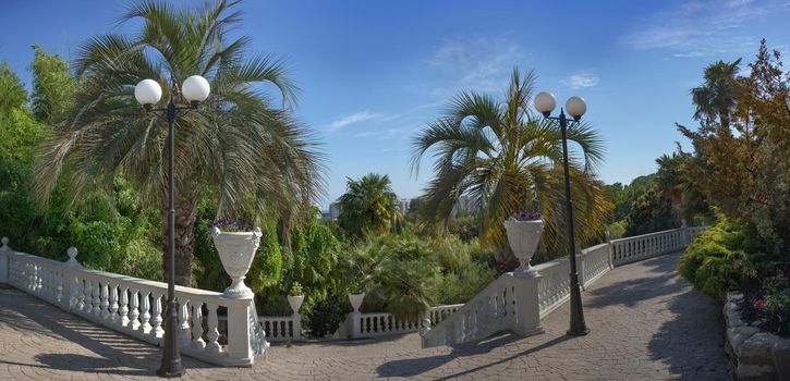
[[[136,103],[134,86],[153,78],[163,98],[185,103],[181,81],[193,74],[208,78],[209,99],[175,126],[175,282],[181,285],[192,283],[195,206],[205,186],[219,189],[218,217],[239,214],[254,198],[259,213],[290,221],[324,182],[316,145],[288,112],[296,87],[282,62],[248,56],[248,36],[228,36],[241,22],[238,3],[218,0],[194,11],[165,1],[135,2],[120,19],[141,22],[134,36],[100,35],[81,45],[74,105],[42,145],[35,170],[42,204],[61,177],[73,204],[92,188],[110,189],[120,174],[167,221],[168,128]],[[278,89],[281,105],[264,90],[266,84]]]

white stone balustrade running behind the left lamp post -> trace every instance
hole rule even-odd
[[[3,238],[3,244],[8,239]],[[0,283],[8,283],[93,322],[155,345],[162,344],[167,283],[83,269],[70,248],[69,262],[0,248]],[[183,354],[220,366],[252,366],[267,343],[254,324],[252,297],[175,286],[178,337]],[[227,335],[218,329],[227,309]]]

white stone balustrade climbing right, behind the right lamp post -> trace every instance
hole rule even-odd
[[[576,255],[576,269],[582,287],[587,287],[615,266],[625,265],[651,257],[673,253],[686,247],[696,234],[707,226],[680,228],[622,239],[613,239],[596,245]],[[502,330],[512,330],[527,334],[540,332],[539,321],[535,325],[524,322],[519,324],[519,315],[539,316],[543,319],[560,307],[570,297],[570,261],[568,257],[544,262],[533,268],[540,276],[536,278],[537,287],[530,288],[530,283],[506,273],[485,290],[475,295],[455,314],[443,322],[434,323],[423,335],[423,346],[451,345],[485,339]],[[536,298],[534,305],[530,293]],[[527,300],[534,310],[525,310]],[[511,308],[510,306],[516,306]],[[520,306],[521,308],[518,308]],[[516,312],[518,309],[518,312]]]

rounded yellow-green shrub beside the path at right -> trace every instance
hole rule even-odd
[[[744,248],[742,228],[721,217],[685,249],[678,272],[706,295],[724,300],[738,286],[743,269],[751,267]]]

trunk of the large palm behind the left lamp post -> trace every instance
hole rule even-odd
[[[194,186],[175,192],[175,284],[182,286],[192,286],[192,245],[194,243],[193,228],[197,219],[197,198],[199,196],[199,187]],[[181,190],[181,189],[180,189]],[[162,207],[165,234],[162,235],[162,265],[165,268],[165,282],[170,276],[168,260],[168,217],[170,214],[167,201]]]

